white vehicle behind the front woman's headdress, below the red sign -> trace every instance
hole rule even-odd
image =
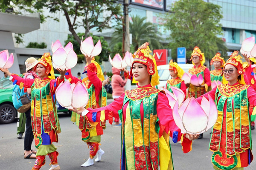
[[[182,68],[185,73],[189,72],[189,68],[193,67],[193,64],[178,64],[180,66],[180,68]],[[172,79],[171,75],[170,75],[170,71],[169,71],[169,64],[166,65],[159,65],[157,66],[157,70],[158,70],[158,75],[159,75],[159,82],[160,84],[157,85],[158,89],[163,89],[166,86],[166,82],[169,79]]]

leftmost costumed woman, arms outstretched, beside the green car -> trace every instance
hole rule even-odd
[[[35,66],[40,78],[23,79],[11,74],[8,69],[1,69],[7,73],[10,79],[20,88],[31,88],[31,124],[35,137],[36,153],[35,165],[32,170],[39,170],[45,164],[45,156],[48,155],[52,164],[49,170],[60,170],[58,165],[57,148],[52,142],[58,142],[58,133],[61,132],[57,108],[53,95],[61,82],[64,82],[66,70],[57,68],[61,76],[55,79],[52,60],[49,53],[44,53]]]

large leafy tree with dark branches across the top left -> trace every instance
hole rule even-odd
[[[84,35],[87,38],[93,28],[99,32],[111,28],[111,22],[119,21],[121,18],[119,16],[122,14],[121,4],[113,0],[0,0],[0,2],[2,11],[6,6],[13,6],[29,13],[39,12],[41,22],[49,17],[43,14],[45,8],[49,9],[50,13],[62,12],[67,19],[69,31],[77,42],[80,42],[80,38],[76,28],[84,28]]]

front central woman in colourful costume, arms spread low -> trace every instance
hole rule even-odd
[[[131,75],[138,82],[138,88],[125,91],[108,106],[88,108],[89,113],[85,116],[91,122],[99,122],[111,120],[116,116],[113,115],[116,112],[111,111],[119,111],[122,121],[121,170],[157,170],[159,167],[172,170],[169,136],[175,143],[181,139],[184,153],[191,150],[191,140],[198,137],[180,133],[166,95],[154,88],[159,83],[159,76],[148,44],[144,43],[133,54]],[[84,108],[73,111],[86,112]]]

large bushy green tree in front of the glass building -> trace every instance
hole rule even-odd
[[[176,57],[177,47],[186,47],[186,57],[190,59],[195,46],[206,58],[211,59],[221,50],[226,55],[227,47],[222,35],[221,6],[203,0],[179,0],[171,6],[172,13],[165,15],[165,26],[171,30],[170,44],[172,56]]]

